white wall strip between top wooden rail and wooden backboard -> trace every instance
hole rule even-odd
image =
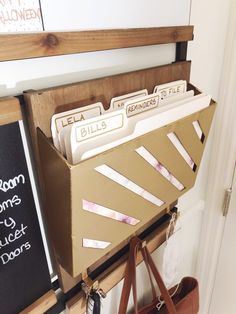
[[[0,62],[0,96],[161,65],[174,54],[174,45],[162,45]]]

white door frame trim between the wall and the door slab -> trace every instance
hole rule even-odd
[[[200,284],[201,314],[208,314],[214,288],[218,257],[227,217],[222,206],[225,191],[232,184],[236,159],[236,4],[231,9],[219,100],[209,162],[205,211],[200,238],[197,278]]]

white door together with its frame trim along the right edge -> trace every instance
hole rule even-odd
[[[236,1],[230,1],[214,141],[198,252],[200,314],[236,314]],[[234,177],[234,179],[232,179]],[[232,187],[228,216],[224,191]]]

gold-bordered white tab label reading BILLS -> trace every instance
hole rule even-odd
[[[108,118],[100,116],[97,120],[76,127],[76,141],[82,142],[93,137],[120,129],[124,126],[124,114],[118,113]]]

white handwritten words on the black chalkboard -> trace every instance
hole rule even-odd
[[[0,193],[3,196],[6,195],[5,200],[0,203],[0,229],[4,231],[4,236],[0,238],[0,264],[2,265],[8,264],[31,248],[31,244],[26,239],[28,227],[22,222],[17,222],[11,211],[11,209],[21,204],[21,198],[19,195],[7,196],[8,192],[21,184],[25,184],[23,174],[6,181],[0,179]],[[11,245],[14,245],[14,249],[10,248]]]

